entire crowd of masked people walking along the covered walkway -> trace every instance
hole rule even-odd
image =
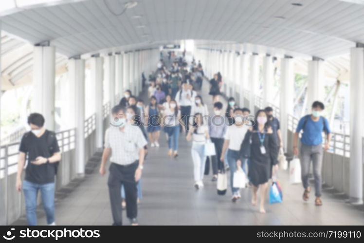
[[[160,147],[160,133],[164,132],[171,158],[176,158],[180,137],[191,141],[193,162],[193,186],[204,187],[204,175],[212,168],[212,181],[218,180],[218,173],[229,170],[232,202],[241,198],[240,189],[234,187],[234,174],[241,168],[251,187],[252,205],[257,205],[260,189],[259,211],[265,213],[265,198],[269,181],[278,169],[279,148],[283,147],[279,120],[273,116],[273,109],[266,107],[251,114],[248,108],[238,107],[234,97],[229,97],[227,106],[219,101],[222,76],[218,72],[209,81],[213,114],[203,102],[201,88],[205,75],[198,61],[190,65],[184,55],[172,55],[168,68],[161,59],[157,69],[149,75],[148,101],[135,97],[126,90],[120,103],[112,108],[110,127],[105,133],[105,146],[99,169],[106,174],[109,160],[109,198],[113,225],[122,225],[122,210],[126,208],[127,218],[132,225],[138,225],[138,202],[142,200],[142,170],[147,158],[148,146]],[[301,157],[303,200],[309,200],[309,166],[313,162],[315,179],[315,205],[321,206],[321,164],[323,150],[328,150],[330,130],[328,120],[322,116],[324,104],[315,101],[312,113],[298,123],[294,134],[293,149]],[[33,113],[28,123],[32,131],[26,133],[19,148],[17,188],[23,188],[29,224],[36,224],[36,192],[41,190],[42,201],[48,224],[55,224],[54,217],[54,175],[61,155],[55,135],[43,128],[44,118]],[[301,148],[298,138],[303,131]],[[327,143],[322,147],[321,132],[327,133]],[[44,135],[45,134],[45,135]],[[213,143],[215,155],[205,153],[207,143]],[[43,150],[37,148],[44,147]],[[26,154],[28,166],[22,185],[21,173]],[[52,170],[50,169],[52,168]],[[53,194],[53,195],[52,195]]]

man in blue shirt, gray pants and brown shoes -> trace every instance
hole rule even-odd
[[[321,168],[322,168],[322,157],[324,150],[328,150],[331,131],[328,126],[328,120],[321,116],[322,111],[325,106],[320,101],[315,101],[312,104],[312,113],[302,117],[297,125],[296,132],[293,137],[293,152],[298,156],[297,141],[299,132],[302,130],[301,137],[301,173],[302,173],[302,183],[305,191],[303,193],[303,200],[309,200],[309,166],[312,160],[313,164],[313,177],[315,180],[315,205],[321,206],[321,189],[322,189],[322,179],[321,179]],[[322,131],[327,134],[327,142],[323,148],[322,146]]]

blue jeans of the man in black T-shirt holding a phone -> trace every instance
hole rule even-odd
[[[29,181],[23,182],[25,196],[25,210],[29,225],[36,225],[36,198],[38,190],[42,197],[42,205],[47,217],[47,224],[55,222],[55,183],[36,184]]]

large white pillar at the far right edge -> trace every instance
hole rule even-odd
[[[350,191],[353,204],[363,204],[364,48],[350,50]]]

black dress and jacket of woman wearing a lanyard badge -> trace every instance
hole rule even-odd
[[[263,137],[263,133],[261,133]],[[258,131],[247,131],[240,147],[240,158],[245,157],[250,146],[250,165],[248,177],[254,186],[268,182],[272,178],[272,167],[278,163],[278,145],[273,133],[266,133],[264,142],[265,154],[260,151]]]

